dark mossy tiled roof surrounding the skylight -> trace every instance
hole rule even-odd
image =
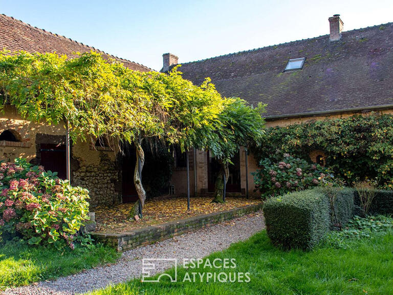
[[[290,58],[302,70],[285,72]],[[393,106],[393,23],[188,62],[183,77],[210,77],[225,96],[268,103],[267,117]]]

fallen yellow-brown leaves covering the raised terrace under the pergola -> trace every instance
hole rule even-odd
[[[212,203],[212,198],[197,197],[190,199],[190,210],[187,211],[186,197],[159,197],[147,200],[143,208],[143,218],[136,222],[129,220],[129,212],[134,203],[114,206],[96,207],[96,231],[105,233],[121,233],[122,231],[165,223],[191,216],[209,214],[222,210],[229,210],[251,204],[260,203],[260,199],[246,199],[243,197],[227,197],[225,204]]]

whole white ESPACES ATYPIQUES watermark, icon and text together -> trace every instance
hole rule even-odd
[[[142,259],[142,282],[158,283],[163,277],[169,278],[170,282],[178,282],[178,260],[176,258],[152,258]],[[220,283],[248,283],[251,281],[250,272],[239,272],[236,269],[236,259],[216,258],[187,259],[182,261],[184,276],[179,278],[181,282],[220,282]],[[173,267],[169,273],[161,273],[157,279],[153,279],[153,270],[159,272]]]

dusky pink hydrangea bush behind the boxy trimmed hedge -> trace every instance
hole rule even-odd
[[[289,154],[284,154],[279,162],[266,158],[259,162],[259,166],[261,169],[252,174],[255,190],[259,190],[263,198],[317,186],[329,173],[318,164],[310,164]]]

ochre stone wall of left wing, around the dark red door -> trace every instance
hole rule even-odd
[[[39,165],[41,160],[40,144],[64,144],[64,123],[48,125],[21,118],[10,106],[0,117],[0,133],[11,129],[18,133],[20,142],[2,141],[0,144],[0,160],[13,161],[15,158],[26,158],[30,163]],[[71,183],[90,191],[90,203],[96,205],[112,205],[121,202],[121,173],[116,154],[113,149],[94,148],[95,140],[86,136],[86,140],[72,143],[71,150]]]

